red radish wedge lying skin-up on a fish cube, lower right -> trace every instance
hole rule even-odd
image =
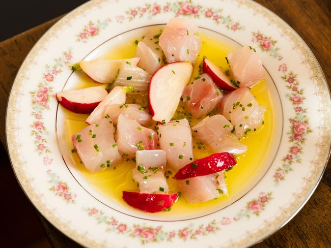
[[[195,176],[205,176],[232,168],[237,164],[235,157],[229,152],[212,154],[206,158],[193,161],[181,168],[175,179],[186,179]]]

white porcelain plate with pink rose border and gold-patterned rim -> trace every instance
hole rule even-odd
[[[269,73],[274,137],[261,173],[227,204],[153,215],[106,198],[71,165],[54,93],[75,86],[69,65],[100,57],[174,16],[194,18],[201,33],[233,47],[256,48]],[[84,246],[241,247],[280,229],[311,196],[329,155],[330,106],[310,49],[283,20],[252,1],[91,1],[50,28],[24,60],[9,98],[7,143],[26,195]]]

